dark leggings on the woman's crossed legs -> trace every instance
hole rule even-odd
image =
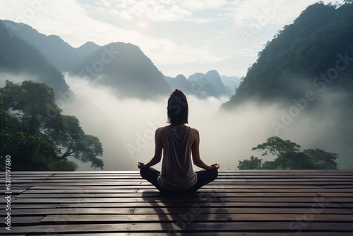
[[[140,169],[140,175],[143,179],[153,184],[162,194],[193,194],[198,191],[203,185],[213,182],[218,176],[218,170],[200,170],[196,172],[198,181],[189,189],[164,189],[160,186],[157,178],[160,176],[160,171],[155,168],[148,167]]]

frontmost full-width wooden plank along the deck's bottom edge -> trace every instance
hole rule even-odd
[[[290,222],[229,222],[229,223],[107,223],[107,224],[81,224],[81,225],[30,225],[13,227],[16,233],[40,232],[291,232]],[[299,225],[299,223],[298,223]],[[352,223],[316,223],[309,222],[306,227],[293,228],[292,232],[353,232]],[[4,228],[0,228],[4,233]]]

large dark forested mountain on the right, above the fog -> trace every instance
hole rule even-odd
[[[306,90],[350,94],[352,57],[353,4],[313,4],[265,45],[237,93],[222,107],[249,100],[292,102]],[[331,78],[322,78],[324,74]]]

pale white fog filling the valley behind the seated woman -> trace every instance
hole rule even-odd
[[[137,170],[138,161],[147,163],[153,157],[155,129],[167,125],[167,97],[154,101],[119,99],[109,88],[65,77],[74,96],[61,104],[63,114],[78,117],[85,134],[100,138],[104,170]],[[302,148],[340,151],[340,138],[333,132],[337,119],[333,110],[309,116],[299,103],[282,107],[248,102],[232,112],[219,112],[226,100],[188,96],[189,126],[200,132],[201,159],[208,164],[220,163],[220,170],[237,170],[239,160],[251,155],[271,160],[251,151],[270,136],[289,139]],[[92,170],[89,163],[78,164],[78,170]],[[160,169],[160,163],[155,167]]]

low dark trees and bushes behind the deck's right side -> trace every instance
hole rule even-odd
[[[264,151],[262,155],[275,155],[272,161],[265,161],[251,156],[249,160],[239,160],[239,170],[336,170],[338,158],[336,153],[328,153],[321,149],[300,151],[301,146],[289,140],[274,136],[265,143],[258,144],[252,150]]]

